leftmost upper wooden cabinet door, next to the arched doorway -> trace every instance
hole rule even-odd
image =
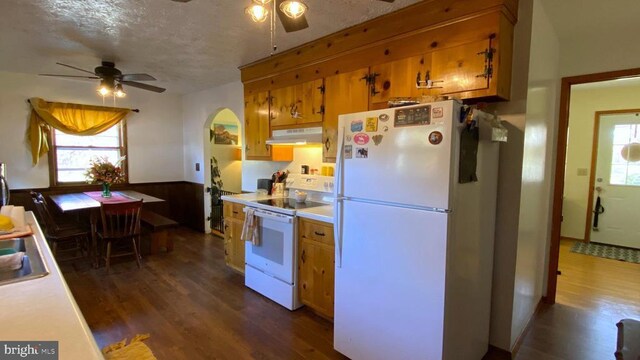
[[[247,160],[269,160],[269,92],[247,94],[244,99],[245,155]]]

